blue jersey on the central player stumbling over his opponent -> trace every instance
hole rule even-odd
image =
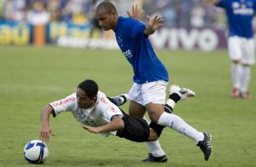
[[[167,81],[168,73],[153,51],[148,36],[144,34],[145,25],[132,18],[118,17],[114,30],[117,44],[125,58],[133,66],[134,83]]]

